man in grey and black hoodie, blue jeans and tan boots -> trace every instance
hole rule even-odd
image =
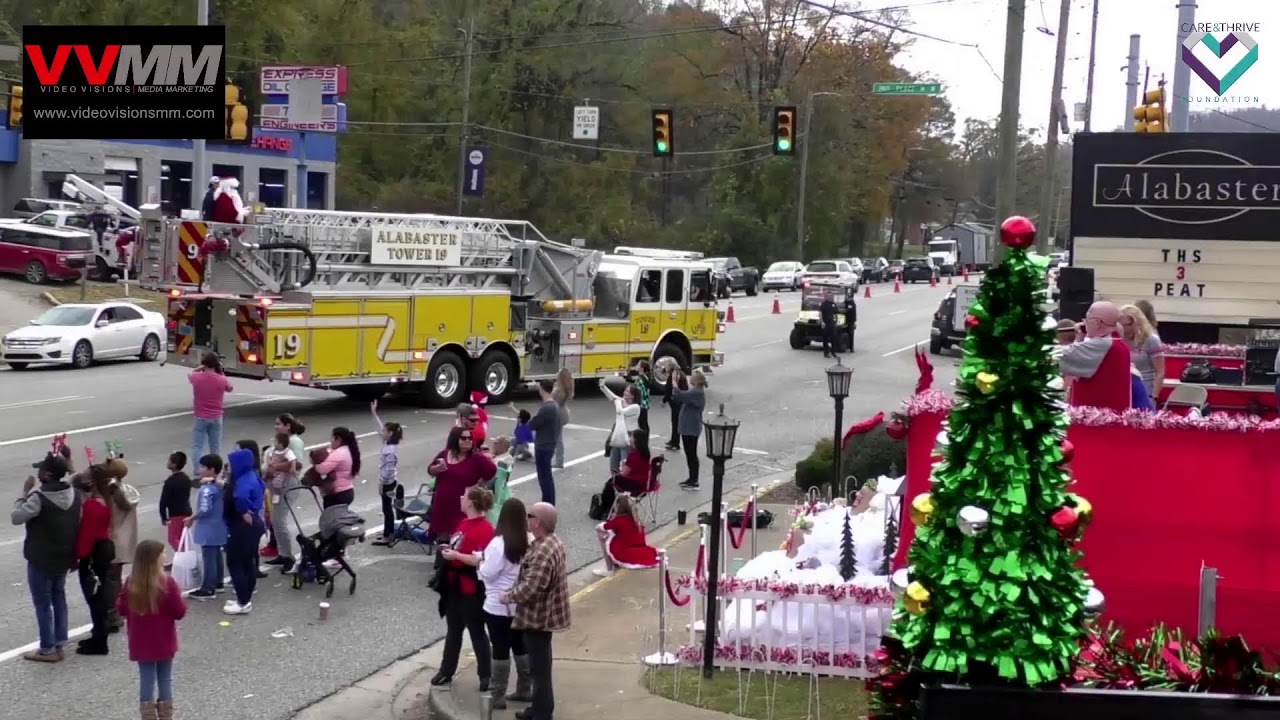
[[[76,561],[81,501],[67,473],[67,460],[49,454],[36,464],[36,477],[27,478],[10,514],[14,525],[27,527],[22,555],[27,560],[40,648],[23,657],[36,662],[60,662],[68,642],[67,573]]]

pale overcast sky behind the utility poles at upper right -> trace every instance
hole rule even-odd
[[[1057,49],[1057,24],[1061,0],[1025,0],[1027,17],[1023,36],[1021,123],[1043,128],[1050,115],[1053,82],[1053,56]],[[1074,120],[1074,104],[1085,99],[1089,59],[1089,26],[1093,0],[1070,0],[1066,65],[1062,74],[1062,97],[1068,117]],[[1130,113],[1125,102],[1125,70],[1129,36],[1139,35],[1139,83],[1146,67],[1151,68],[1151,87],[1164,74],[1172,88],[1174,65],[1178,61],[1179,0],[1101,0],[1098,3],[1097,64],[1093,78],[1093,131],[1121,129]],[[915,72],[942,81],[943,92],[956,111],[956,126],[964,118],[996,118],[1005,55],[1005,24],[1009,0],[864,0],[863,9],[906,8],[908,29],[950,42],[916,37],[902,64]],[[1280,3],[1275,0],[1198,0],[1196,22],[1260,23],[1252,31],[1258,44],[1258,60],[1240,76],[1220,100],[1196,74],[1190,77],[1192,111],[1230,110],[1245,105],[1280,105],[1280,88],[1263,78],[1280,70]],[[1041,29],[1044,28],[1044,29]],[[1047,31],[1047,32],[1046,32]],[[1224,33],[1216,33],[1219,38]],[[1276,38],[1274,54],[1267,53]],[[966,47],[964,45],[975,45]],[[1219,76],[1226,74],[1245,50],[1236,45],[1219,59],[1201,45],[1196,56]],[[1140,87],[1139,87],[1140,91]],[[1213,100],[1212,102],[1210,100]],[[1073,122],[1073,132],[1083,123]]]

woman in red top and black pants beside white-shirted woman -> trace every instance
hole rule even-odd
[[[493,493],[474,486],[462,496],[462,521],[449,544],[440,546],[444,559],[444,656],[440,671],[431,678],[433,685],[453,682],[462,653],[462,630],[471,635],[471,651],[476,655],[476,674],[480,692],[489,692],[489,635],[484,625],[484,585],[476,574],[481,553],[493,539],[493,525],[485,514],[493,507]]]

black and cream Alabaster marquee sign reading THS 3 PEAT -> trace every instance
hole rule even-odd
[[[1100,133],[1075,138],[1071,261],[1162,322],[1280,316],[1280,137]]]

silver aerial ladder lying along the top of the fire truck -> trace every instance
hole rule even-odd
[[[591,297],[600,254],[547,240],[531,223],[448,215],[269,209],[241,231],[211,225],[225,241],[205,265],[207,292],[367,292],[511,288],[535,300]],[[228,231],[229,232],[225,232]],[[374,233],[453,233],[453,266],[372,264]]]

